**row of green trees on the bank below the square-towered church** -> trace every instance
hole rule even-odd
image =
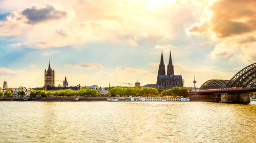
[[[74,91],[72,89],[58,90],[58,91],[46,91],[46,90],[33,90],[30,93],[31,97],[38,96],[96,96],[99,94],[99,91],[96,89],[86,89],[81,88],[79,91]]]

